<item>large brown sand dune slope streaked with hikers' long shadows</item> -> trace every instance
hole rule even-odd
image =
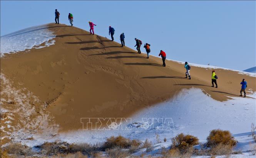
[[[167,67],[162,67],[161,58],[147,59],[80,28],[48,26],[56,35],[54,45],[0,58],[1,107],[12,110],[1,120],[1,143],[21,128],[67,132],[82,129],[85,117],[129,117],[191,87],[218,101],[240,95],[243,78],[248,94],[256,91],[256,77],[237,71],[215,69],[217,89],[211,87],[212,69],[192,66],[188,80],[181,63],[166,61]]]

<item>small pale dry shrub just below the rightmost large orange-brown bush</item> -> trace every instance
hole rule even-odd
[[[232,153],[233,147],[230,146],[229,144],[218,144],[214,147],[211,148],[209,151],[210,155],[230,155]]]

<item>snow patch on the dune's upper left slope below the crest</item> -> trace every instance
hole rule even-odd
[[[55,43],[55,35],[47,25],[26,28],[0,37],[0,57],[32,48],[44,48]],[[40,46],[43,44],[43,46]]]

